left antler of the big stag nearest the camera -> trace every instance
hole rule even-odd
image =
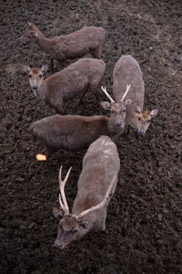
[[[59,194],[59,204],[61,205],[61,208],[63,209],[63,211],[66,214],[69,214],[69,207],[67,205],[66,195],[65,195],[65,185],[66,185],[66,181],[67,181],[67,178],[70,174],[72,167],[69,168],[68,172],[66,173],[66,177],[63,181],[61,179],[62,167],[63,167],[63,165],[61,165],[60,170],[59,170],[59,187],[60,187],[60,193],[61,193],[61,194]]]

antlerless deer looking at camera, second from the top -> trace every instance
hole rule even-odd
[[[45,103],[57,112],[64,112],[63,106],[66,100],[72,100],[82,94],[80,104],[87,90],[90,90],[99,101],[99,89],[106,72],[106,64],[103,60],[82,58],[44,79],[47,69],[47,66],[23,67],[23,70],[28,73],[29,83],[35,97],[45,100]]]

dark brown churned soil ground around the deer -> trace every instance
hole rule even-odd
[[[0,273],[182,273],[182,2],[8,0],[1,1],[0,15]],[[86,152],[35,161],[40,149],[30,123],[55,111],[35,99],[21,72],[22,64],[50,61],[34,44],[18,41],[27,20],[46,37],[103,26],[103,85],[112,91],[116,60],[131,54],[144,74],[145,107],[159,110],[144,138],[124,133],[118,144],[121,170],[106,231],[91,232],[64,250],[50,248],[57,233],[52,207],[58,205],[58,170],[73,166],[66,185],[71,206]],[[67,103],[69,113],[75,102]],[[95,115],[97,107],[88,94],[76,114]]]

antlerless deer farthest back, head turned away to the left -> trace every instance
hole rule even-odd
[[[102,44],[106,37],[106,30],[98,26],[84,26],[66,36],[47,38],[33,23],[28,27],[20,40],[28,39],[51,56],[51,69],[54,71],[54,59],[82,58],[90,53],[94,58],[101,58]]]

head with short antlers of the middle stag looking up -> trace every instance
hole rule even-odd
[[[106,94],[106,97],[110,100],[101,101],[101,106],[104,110],[111,112],[111,117],[109,120],[109,125],[112,129],[118,128],[121,132],[125,129],[125,120],[126,120],[126,108],[130,105],[131,99],[126,99],[126,94],[130,89],[130,85],[126,85],[126,92],[119,102],[116,102],[112,97],[107,93],[106,88],[101,87],[101,89]]]

